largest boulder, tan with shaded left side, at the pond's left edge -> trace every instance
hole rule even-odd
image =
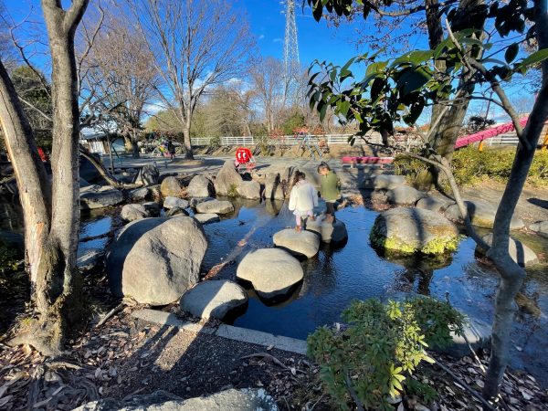
[[[112,293],[151,305],[178,300],[198,282],[207,240],[194,218],[144,218],[123,228],[107,256]]]

